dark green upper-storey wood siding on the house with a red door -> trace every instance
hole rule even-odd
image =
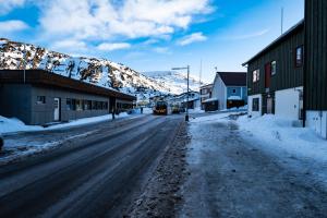
[[[277,71],[270,78],[269,93],[303,85],[303,68],[295,68],[295,49],[304,45],[304,27],[299,24],[279,44],[247,63],[247,94],[266,93],[265,65],[277,62]],[[253,83],[252,72],[259,69],[259,81]]]

